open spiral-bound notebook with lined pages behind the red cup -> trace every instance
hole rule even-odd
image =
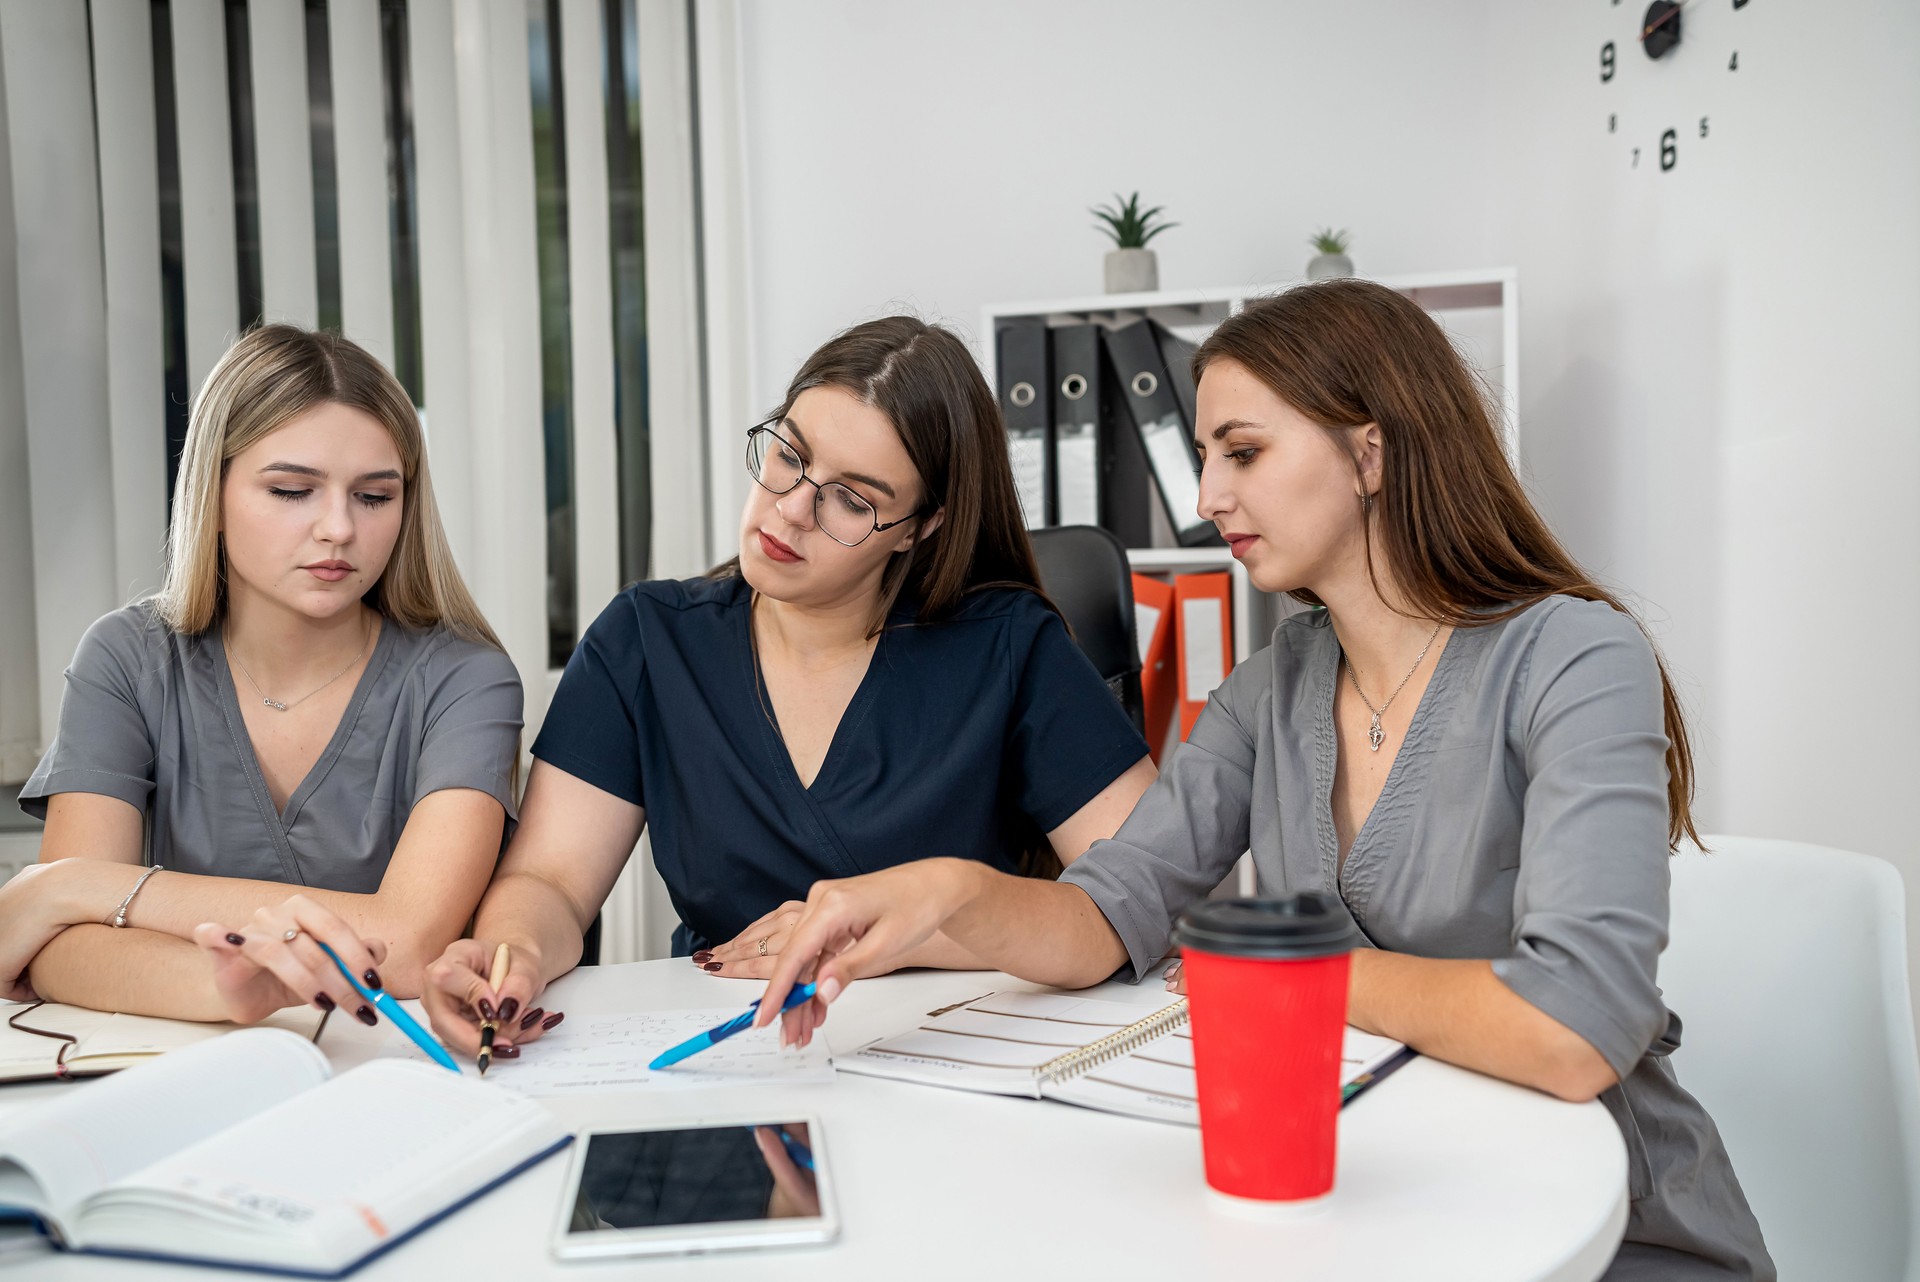
[[[1402,1042],[1348,1027],[1342,1104],[1413,1056]],[[989,992],[931,1011],[833,1067],[929,1086],[1060,1100],[1089,1109],[1200,1125],[1187,1000],[1140,1017],[1139,1006],[1054,992]]]

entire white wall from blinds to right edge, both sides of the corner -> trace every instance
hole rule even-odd
[[[1889,858],[1920,944],[1920,8],[1713,0],[1661,65],[1640,12],[747,0],[753,403],[895,305],[1098,292],[1116,188],[1183,223],[1171,288],[1321,223],[1367,274],[1517,265],[1523,464],[1667,649],[1703,827]]]

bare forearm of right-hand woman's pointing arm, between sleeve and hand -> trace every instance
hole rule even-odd
[[[977,965],[1060,988],[1089,988],[1127,962],[1119,935],[1079,887],[1012,877],[972,860],[952,864],[947,871],[962,887],[960,906],[941,935],[977,958]]]

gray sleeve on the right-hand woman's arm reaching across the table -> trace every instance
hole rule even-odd
[[[1119,935],[1131,979],[1165,954],[1173,919],[1246,850],[1265,716],[1260,689],[1269,679],[1261,664],[1235,668],[1112,841],[1096,841],[1060,873]]]

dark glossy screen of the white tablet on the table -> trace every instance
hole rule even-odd
[[[670,1224],[820,1219],[806,1123],[588,1138],[568,1238]]]

